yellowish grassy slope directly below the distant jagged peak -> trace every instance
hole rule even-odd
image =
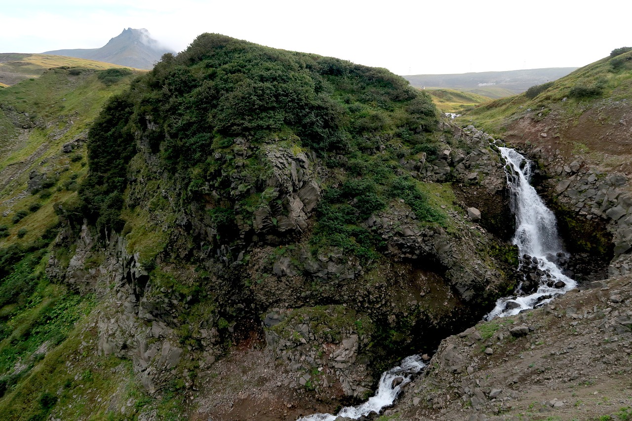
[[[37,78],[51,68],[64,66],[92,70],[125,67],[102,61],[51,54],[3,53],[0,54],[0,85],[15,85],[21,80]]]

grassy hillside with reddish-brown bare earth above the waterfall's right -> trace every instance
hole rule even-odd
[[[612,159],[629,171],[630,94],[632,52],[618,49],[559,80],[476,107],[463,121],[511,142],[532,142],[566,156],[593,154],[595,162]]]

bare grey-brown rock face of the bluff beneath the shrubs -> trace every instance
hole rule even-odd
[[[257,149],[235,138],[233,155],[213,158],[234,165],[235,171],[221,174],[222,187],[229,188],[209,181],[198,186],[201,203],[183,206],[178,180],[167,176],[141,136],[127,203],[130,212],[147,212],[149,220],[140,229],[132,219],[106,244],[95,244],[84,226],[75,234],[70,263],[63,266],[63,255],[52,258],[51,277],[96,291],[103,303],[99,351],[130,358],[151,393],[174,378],[196,387],[191,367],[208,369],[228,339],[254,332],[265,336],[267,358],[288,368],[291,384],[320,396],[364,398],[379,374],[376,356],[384,358],[380,363],[394,358],[386,347],[461,329],[480,319],[482,303],[494,302],[515,283],[511,263],[496,253],[509,246],[486,228],[499,225],[492,218],[501,207],[483,206],[487,192],[498,203],[504,200],[502,164],[487,140],[455,133],[437,161],[446,162],[451,180],[464,191],[476,190],[480,200],[463,195],[468,203],[454,204],[446,186],[447,198],[437,199],[446,204],[433,202],[445,213],[444,226],[422,223],[410,206],[394,200],[362,224],[384,244],[384,261],[368,265],[337,247],[310,247],[321,183],[331,176],[313,152],[280,142]],[[409,161],[404,169],[418,178],[439,174],[437,165],[427,168],[423,153]],[[252,203],[243,197],[259,201],[248,210]],[[225,237],[212,213],[231,206],[239,210],[238,233]],[[467,207],[481,210],[468,217]],[[128,241],[142,243],[137,233],[151,229],[168,247],[159,248],[148,265]],[[262,323],[253,323],[259,313]]]

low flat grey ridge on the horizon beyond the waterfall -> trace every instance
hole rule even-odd
[[[520,94],[533,85],[540,85],[541,83],[559,79],[576,69],[576,67],[557,67],[454,73],[450,75],[408,75],[403,77],[415,87],[451,88],[499,98]]]

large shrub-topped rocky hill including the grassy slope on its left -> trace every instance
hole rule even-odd
[[[130,77],[0,91],[5,417],[296,418],[514,284],[498,157],[399,76],[204,34]]]

